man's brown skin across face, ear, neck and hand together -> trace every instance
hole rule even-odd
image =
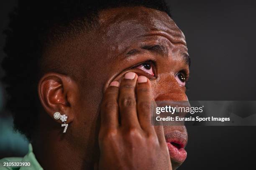
[[[186,128],[150,126],[150,112],[136,111],[138,100],[127,97],[136,94],[142,103],[187,100],[184,83],[177,76],[180,71],[189,75],[182,31],[166,13],[144,7],[102,10],[99,19],[99,27],[45,49],[44,74],[38,83],[43,109],[32,142],[38,162],[47,170],[176,169],[182,162],[171,163],[164,135],[175,131],[186,138]],[[141,69],[145,61],[154,61],[156,66]],[[135,73],[135,78],[124,79],[128,72]],[[147,82],[138,85],[139,76]],[[119,111],[108,107],[111,100],[117,101]],[[53,118],[55,112],[68,116],[65,134],[61,121]],[[123,119],[117,131],[118,112]]]

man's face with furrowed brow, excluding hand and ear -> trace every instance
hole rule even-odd
[[[151,80],[154,100],[184,101],[183,80],[189,76],[184,35],[166,13],[144,7],[115,8],[102,10],[99,20],[98,29],[66,41],[67,51],[58,49],[72,58],[69,66],[77,73],[80,102],[70,134],[77,147],[84,146],[89,162],[92,155],[97,157],[100,102],[110,82],[133,71]],[[186,128],[164,127],[164,133],[176,143],[170,156],[177,167],[186,158],[179,156],[180,147],[187,144]]]

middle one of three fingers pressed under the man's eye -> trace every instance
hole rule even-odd
[[[120,83],[118,104],[122,127],[139,126],[135,99],[137,78],[138,76],[135,73],[128,72]]]

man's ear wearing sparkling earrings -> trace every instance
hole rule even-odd
[[[45,111],[52,119],[55,112],[66,114],[68,124],[74,120],[77,91],[76,82],[63,74],[47,73],[38,83],[38,95]],[[60,119],[54,120],[61,123]]]

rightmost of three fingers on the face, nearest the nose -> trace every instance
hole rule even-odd
[[[141,128],[144,131],[152,132],[154,127],[151,124],[152,91],[151,84],[145,76],[139,76],[136,85],[137,114]]]

